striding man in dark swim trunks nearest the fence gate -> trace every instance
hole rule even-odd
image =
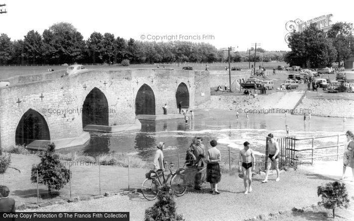
[[[280,180],[279,178],[279,145],[278,142],[274,139],[273,134],[268,134],[268,138],[270,139],[268,141],[268,150],[269,150],[269,156],[268,156],[268,165],[267,165],[267,171],[265,172],[265,179],[261,183],[267,183],[268,182],[268,175],[269,175],[269,170],[271,169],[271,164],[273,164],[273,167],[277,171],[277,179],[275,180],[278,182]]]

